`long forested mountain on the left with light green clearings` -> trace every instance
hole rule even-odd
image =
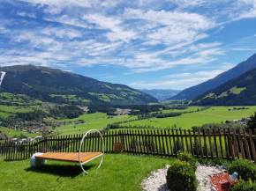
[[[26,94],[42,101],[130,105],[158,100],[124,84],[110,84],[63,70],[34,65],[4,67],[1,92]]]

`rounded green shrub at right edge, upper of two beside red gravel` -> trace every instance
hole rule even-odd
[[[229,173],[237,172],[242,180],[256,180],[256,165],[245,159],[234,160],[229,168]]]

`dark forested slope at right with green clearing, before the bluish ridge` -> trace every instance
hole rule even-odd
[[[201,106],[252,106],[256,105],[256,68],[221,84],[194,99]]]

